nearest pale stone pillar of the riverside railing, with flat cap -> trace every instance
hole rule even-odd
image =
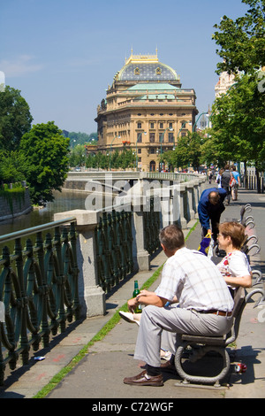
[[[81,315],[83,317],[104,315],[106,313],[105,292],[98,284],[95,253],[95,227],[98,223],[98,213],[86,210],[57,212],[54,220],[64,220],[72,216],[77,220],[79,234],[77,261]]]

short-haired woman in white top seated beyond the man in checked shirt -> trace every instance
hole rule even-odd
[[[239,222],[223,222],[219,225],[218,245],[219,249],[225,250],[226,256],[216,266],[231,288],[231,294],[239,286],[252,286],[251,268],[246,254],[240,251],[245,240],[245,227]]]

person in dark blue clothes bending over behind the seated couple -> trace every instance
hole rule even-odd
[[[212,234],[215,245],[221,214],[225,210],[223,205],[225,196],[226,191],[223,188],[205,189],[201,194],[201,198],[198,204],[199,220],[202,227],[201,238],[210,233]]]

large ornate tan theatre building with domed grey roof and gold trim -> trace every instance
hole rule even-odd
[[[114,76],[98,105],[97,150],[136,152],[142,171],[163,169],[163,152],[173,150],[178,137],[192,131],[194,89],[182,89],[179,75],[155,55],[133,55]]]

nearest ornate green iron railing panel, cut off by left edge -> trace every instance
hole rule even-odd
[[[64,223],[70,227],[61,229]],[[50,232],[43,241],[42,232]],[[27,236],[26,247],[22,241]],[[75,219],[50,222],[39,227],[3,235],[0,243],[14,241],[14,253],[5,245],[0,258],[0,384],[8,363],[15,369],[21,355],[27,365],[30,347],[38,351],[41,341],[49,346],[49,335],[64,332],[66,321],[79,319],[78,266]],[[2,304],[2,305],[3,305]]]

